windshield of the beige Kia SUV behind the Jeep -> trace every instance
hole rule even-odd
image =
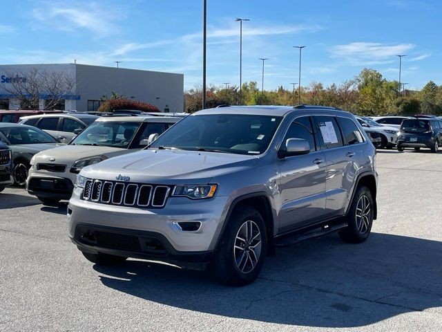
[[[84,129],[71,145],[102,145],[126,149],[141,122],[97,121]]]

